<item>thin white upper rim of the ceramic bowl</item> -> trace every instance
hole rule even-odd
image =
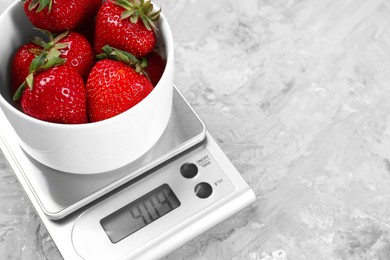
[[[22,3],[19,2],[19,1],[16,1],[16,2],[12,3],[11,5],[9,5],[5,9],[5,11],[0,15],[0,23],[1,23],[2,19],[4,19],[4,17],[11,10],[13,10],[14,8],[18,8],[18,6],[22,7]],[[87,123],[81,123],[81,124],[61,124],[61,123],[54,123],[54,122],[43,121],[43,120],[34,118],[32,116],[29,116],[29,115],[23,113],[22,111],[17,109],[15,106],[10,104],[10,102],[8,102],[3,97],[1,92],[0,92],[0,103],[3,106],[7,107],[8,110],[12,111],[13,113],[16,113],[18,116],[20,116],[24,120],[27,120],[27,121],[31,122],[32,124],[37,124],[37,125],[40,125],[40,126],[48,126],[48,127],[53,127],[53,128],[60,128],[60,129],[75,129],[75,130],[83,129],[83,128],[89,129],[89,128],[96,127],[96,126],[99,126],[99,125],[103,126],[103,125],[107,125],[107,124],[110,124],[110,123],[114,123],[115,121],[118,121],[118,120],[122,120],[128,114],[134,113],[134,111],[142,109],[142,107],[146,106],[147,103],[150,103],[148,101],[153,96],[157,95],[156,92],[162,91],[162,90],[160,90],[161,89],[160,82],[164,81],[164,79],[166,77],[168,77],[167,69],[172,68],[172,70],[173,70],[173,65],[174,65],[174,42],[173,42],[173,35],[172,35],[171,27],[170,27],[170,25],[169,25],[169,23],[168,23],[168,21],[167,21],[167,19],[164,16],[163,13],[160,13],[159,24],[160,24],[159,25],[160,26],[159,29],[164,27],[164,30],[163,30],[164,31],[164,39],[165,39],[164,46],[165,46],[165,50],[166,50],[166,66],[165,66],[163,75],[161,76],[161,79],[160,79],[159,83],[157,83],[157,85],[149,93],[149,95],[147,95],[144,99],[142,99],[135,106],[131,107],[130,109],[128,109],[128,110],[126,110],[126,111],[124,111],[124,112],[122,112],[122,113],[120,113],[118,115],[115,115],[115,116],[113,116],[111,118],[107,118],[107,119],[104,119],[104,120],[101,120],[101,121],[97,121],[97,122],[87,122]],[[161,36],[157,35],[157,37],[161,37]],[[172,71],[172,73],[173,73],[173,71]]]

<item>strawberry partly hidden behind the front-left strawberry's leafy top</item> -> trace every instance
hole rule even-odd
[[[65,32],[54,37],[48,31],[41,30],[41,32],[49,39],[47,42],[35,37],[31,43],[23,45],[13,57],[11,65],[13,94],[28,76],[32,60],[44,52],[65,59],[64,64],[76,69],[84,80],[87,79],[95,62],[93,49],[81,34]]]

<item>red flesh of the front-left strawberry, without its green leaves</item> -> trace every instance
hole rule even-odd
[[[81,124],[88,121],[83,79],[67,66],[37,74],[32,89],[24,90],[21,105],[27,115],[48,122]]]

